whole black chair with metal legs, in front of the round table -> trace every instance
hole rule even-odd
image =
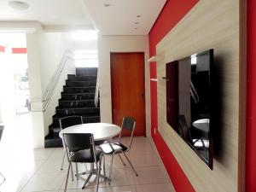
[[[67,190],[67,180],[69,175],[69,170],[71,167],[71,162],[75,163],[90,163],[92,164],[92,169],[90,170],[89,176],[86,178],[84,182],[85,188],[86,183],[89,182],[92,174],[97,175],[96,177],[96,191],[98,191],[99,187],[99,178],[102,170],[102,157],[104,157],[102,150],[96,149],[94,144],[93,134],[90,133],[64,133],[63,137],[64,148],[67,153],[67,160],[69,162],[69,166],[67,169],[67,178],[65,183],[65,192]],[[98,166],[99,162],[99,166]],[[94,165],[96,164],[96,170],[94,169]],[[105,166],[105,164],[103,165]],[[103,168],[104,178],[105,176],[105,167]]]

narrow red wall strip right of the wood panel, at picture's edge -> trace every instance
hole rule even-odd
[[[247,192],[256,191],[256,1],[247,0]]]

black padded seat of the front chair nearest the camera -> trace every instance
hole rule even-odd
[[[96,160],[100,160],[100,156],[102,154],[102,150],[96,149]],[[94,158],[93,154],[91,153],[90,149],[86,150],[80,150],[78,152],[73,153],[73,156],[71,157],[71,161],[73,162],[87,162],[87,163],[93,163]]]

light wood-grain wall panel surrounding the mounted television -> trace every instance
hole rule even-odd
[[[196,191],[238,191],[239,39],[239,0],[212,0],[197,3],[157,44],[158,129]],[[166,63],[207,49],[214,49],[222,103],[213,171],[167,124],[166,81],[162,79]]]

